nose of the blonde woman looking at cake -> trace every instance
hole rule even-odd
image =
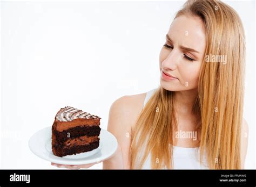
[[[175,51],[175,49],[173,49],[168,56],[166,57],[166,59],[161,62],[161,67],[163,69],[170,69],[170,70],[174,70],[177,68],[177,64],[178,64],[178,60],[179,60],[179,55],[178,52]]]

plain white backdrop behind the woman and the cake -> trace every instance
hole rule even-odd
[[[0,168],[57,169],[28,141],[60,107],[96,114],[106,129],[114,100],[157,88],[159,52],[184,2],[1,2]],[[245,28],[245,168],[255,169],[255,2],[224,2]]]

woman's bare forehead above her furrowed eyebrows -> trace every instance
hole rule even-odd
[[[179,16],[173,20],[169,32],[174,45],[196,49],[203,52],[205,49],[205,28],[199,17]]]

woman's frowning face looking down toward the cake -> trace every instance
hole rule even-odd
[[[159,55],[161,87],[170,91],[197,89],[205,46],[204,24],[199,17],[174,19]]]

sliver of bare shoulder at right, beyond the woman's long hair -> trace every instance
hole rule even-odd
[[[241,126],[241,168],[244,169],[247,147],[248,147],[249,127],[247,121],[243,119]]]

